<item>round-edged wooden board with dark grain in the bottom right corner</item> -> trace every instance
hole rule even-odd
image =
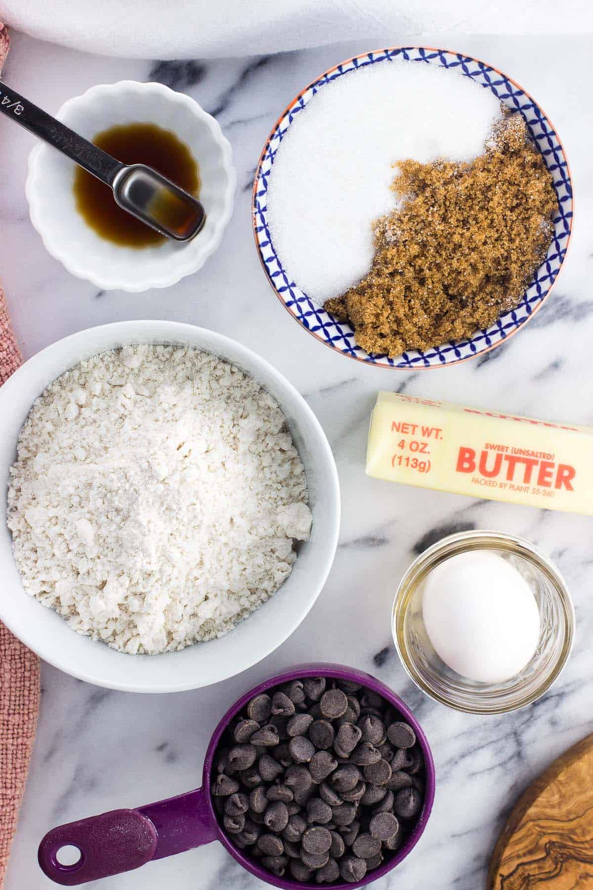
[[[494,848],[488,890],[593,890],[593,735],[519,798]]]

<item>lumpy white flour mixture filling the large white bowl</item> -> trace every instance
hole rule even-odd
[[[260,384],[208,352],[134,346],[37,399],[11,469],[23,585],[126,652],[224,635],[309,538],[301,459]]]

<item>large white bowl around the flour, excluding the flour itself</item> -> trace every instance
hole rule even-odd
[[[6,527],[6,487],[28,411],[45,387],[78,361],[125,344],[184,344],[232,361],[263,384],[284,411],[309,483],[313,528],[284,585],[230,634],[178,652],[126,655],[76,634],[64,619],[25,593]],[[332,566],[340,526],[340,488],[332,450],[306,401],[268,362],[204,328],[172,321],[123,321],[89,328],[38,352],[0,387],[0,619],[55,667],[89,683],[130,692],[196,689],[234,676],[265,658],[301,624]]]

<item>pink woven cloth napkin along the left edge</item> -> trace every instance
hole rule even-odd
[[[7,52],[8,35],[0,24],[0,70]],[[0,290],[0,385],[19,365],[19,349]],[[27,780],[38,709],[39,659],[0,622],[0,888]]]

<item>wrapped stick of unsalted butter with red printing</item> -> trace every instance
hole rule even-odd
[[[593,515],[593,429],[380,392],[366,473]]]

